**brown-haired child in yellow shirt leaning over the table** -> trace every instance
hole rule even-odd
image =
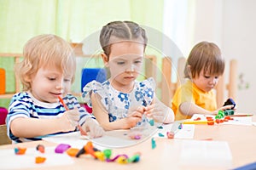
[[[172,99],[176,120],[189,119],[197,114],[217,114],[231,109],[226,105],[217,109],[213,88],[224,74],[224,59],[218,46],[212,42],[199,42],[192,48],[184,69],[189,80],[177,88]]]

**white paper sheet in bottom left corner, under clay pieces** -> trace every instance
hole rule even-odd
[[[46,157],[44,163],[35,163],[36,156]],[[56,154],[55,147],[46,147],[42,154],[36,148],[27,148],[24,155],[15,155],[14,149],[0,150],[0,169],[19,169],[52,167],[73,164],[73,159],[67,154]]]

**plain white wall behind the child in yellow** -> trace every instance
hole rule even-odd
[[[237,111],[247,113],[256,113],[255,8],[254,0],[195,0],[194,44],[191,44],[202,40],[216,42],[227,63],[230,59],[238,60],[238,74],[244,75],[243,82],[238,80],[238,83],[244,87],[248,82],[249,88],[238,89]]]

